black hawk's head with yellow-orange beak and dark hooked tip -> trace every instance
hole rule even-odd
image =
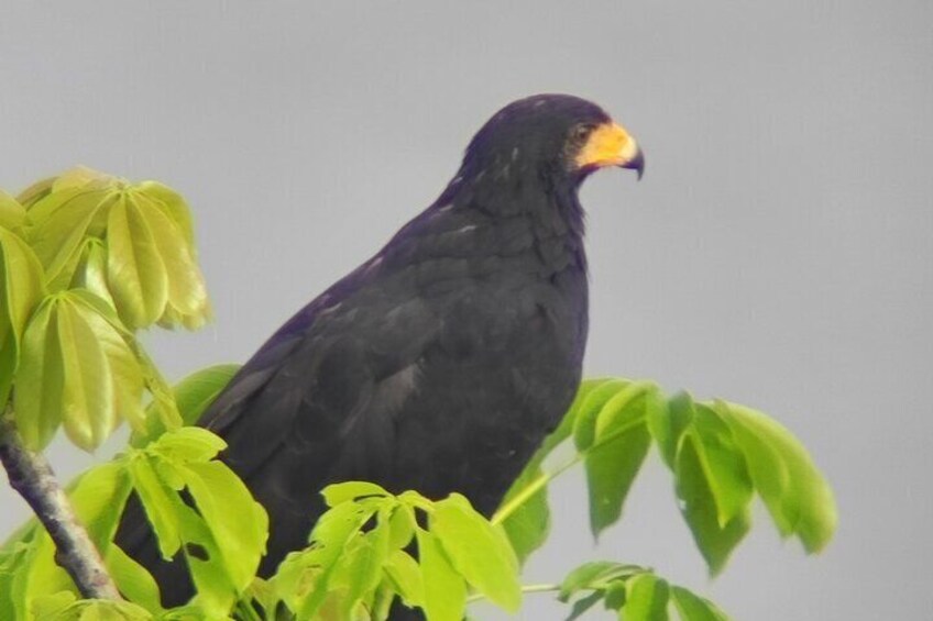
[[[462,173],[508,181],[531,177],[578,186],[606,166],[638,171],[635,138],[599,106],[568,95],[537,95],[509,103],[476,133]]]

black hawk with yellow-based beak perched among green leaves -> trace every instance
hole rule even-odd
[[[437,200],[240,368],[197,424],[227,442],[221,459],[268,513],[260,576],[307,545],[332,483],[459,492],[493,514],[579,387],[589,275],[578,190],[616,166],[640,179],[644,156],[595,103],[548,93],[507,104]],[[190,598],[139,502],[117,543],[163,603]]]

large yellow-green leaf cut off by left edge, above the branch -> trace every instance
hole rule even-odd
[[[45,277],[32,249],[0,228],[0,403],[10,397],[26,321],[44,293]]]

